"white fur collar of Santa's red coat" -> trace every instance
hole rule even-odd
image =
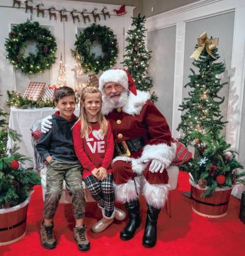
[[[102,104],[102,114],[107,115],[111,113],[115,107],[114,104],[105,101],[103,97],[103,104]],[[144,107],[144,104],[146,104],[146,101],[150,99],[150,94],[148,92],[138,91],[137,95],[134,95],[131,91],[128,95],[128,100],[126,104],[123,106],[122,110],[124,113],[130,114],[132,116],[136,116],[140,114],[142,108]]]

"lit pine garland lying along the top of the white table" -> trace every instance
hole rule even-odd
[[[16,108],[43,108],[43,107],[54,107],[53,98],[46,98],[43,100],[39,98],[37,101],[31,100],[28,97],[22,97],[22,95],[15,91],[7,91],[8,100],[6,104],[8,107]]]

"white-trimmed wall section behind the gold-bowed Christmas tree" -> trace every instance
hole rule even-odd
[[[176,25],[175,41],[175,70],[173,82],[173,115],[172,135],[179,137],[176,131],[180,123],[179,104],[182,103],[186,91],[183,85],[188,81],[191,66],[190,54],[194,50],[196,38],[204,30],[208,37],[219,37],[219,61],[225,62],[226,70],[223,81],[229,86],[221,93],[226,96],[223,104],[223,113],[228,124],[225,137],[231,148],[240,153],[238,160],[245,165],[244,152],[244,79],[245,79],[245,2],[243,0],[201,0],[194,4],[185,5],[172,11],[164,12],[154,17],[147,18],[148,31],[160,31],[162,28]],[[159,43],[159,47],[163,46]],[[173,49],[173,46],[172,46]],[[164,67],[163,67],[164,68]],[[236,187],[236,196],[241,196],[244,186]],[[235,191],[233,190],[233,191]]]

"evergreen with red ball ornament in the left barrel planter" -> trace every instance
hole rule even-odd
[[[17,152],[20,135],[8,128],[6,116],[7,113],[0,109],[0,209],[22,203],[27,199],[31,188],[40,184],[40,177],[36,172],[28,171],[22,166],[30,159]],[[15,142],[11,149],[7,148],[8,137]]]

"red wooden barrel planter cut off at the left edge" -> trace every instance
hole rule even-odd
[[[0,209],[0,246],[17,242],[25,236],[30,196],[17,206]]]

